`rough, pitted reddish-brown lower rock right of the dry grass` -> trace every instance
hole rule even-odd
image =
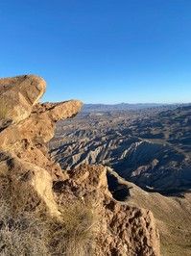
[[[101,215],[95,255],[160,255],[159,235],[152,212],[114,200],[107,189],[107,167],[80,166],[69,179],[55,183],[60,204],[97,201]]]

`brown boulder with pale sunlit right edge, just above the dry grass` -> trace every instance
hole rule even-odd
[[[52,191],[52,176],[46,169],[6,153],[0,153],[0,161],[1,196],[6,201],[12,200],[15,214],[21,208],[33,211],[40,203],[51,215],[60,216]]]

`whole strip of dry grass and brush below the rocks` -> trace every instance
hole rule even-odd
[[[24,211],[0,201],[0,255],[91,255],[98,218],[92,204],[76,201],[61,210],[60,219]]]

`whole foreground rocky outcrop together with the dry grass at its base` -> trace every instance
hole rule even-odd
[[[116,200],[106,166],[64,171],[50,158],[56,122],[82,103],[39,104],[45,88],[33,75],[0,79],[0,254],[160,255],[152,212]]]

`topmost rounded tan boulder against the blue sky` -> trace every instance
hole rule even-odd
[[[45,81],[34,75],[0,79],[0,119],[17,123],[27,118],[45,88]]]

